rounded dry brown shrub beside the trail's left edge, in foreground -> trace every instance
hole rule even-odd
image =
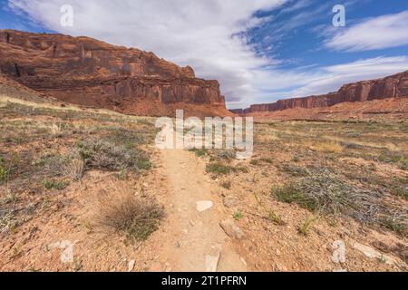
[[[96,224],[124,233],[131,242],[148,239],[164,218],[164,210],[157,202],[137,197],[129,189],[100,193],[95,213]]]

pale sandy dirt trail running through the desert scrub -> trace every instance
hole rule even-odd
[[[219,223],[228,218],[214,182],[205,175],[204,164],[187,150],[162,150],[162,175],[169,185],[166,240],[160,259],[168,271],[247,271],[232,241]],[[213,189],[213,190],[211,190]],[[199,211],[198,202],[213,206]]]

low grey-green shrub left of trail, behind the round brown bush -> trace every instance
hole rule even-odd
[[[151,161],[147,153],[105,140],[83,141],[78,145],[78,153],[87,169],[108,171],[151,169]]]

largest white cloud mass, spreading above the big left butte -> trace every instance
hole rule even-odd
[[[217,79],[229,100],[250,98],[259,67],[257,56],[237,35],[260,24],[253,16],[287,0],[9,0],[34,21],[63,34],[86,35],[108,43],[151,51],[199,77]],[[73,27],[60,25],[61,5],[74,9]],[[272,61],[273,62],[273,61]]]

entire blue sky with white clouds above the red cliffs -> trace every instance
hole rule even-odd
[[[404,0],[0,0],[0,28],[87,35],[217,79],[229,108],[408,70]],[[72,27],[60,24],[72,5]],[[345,5],[345,27],[334,27]]]

